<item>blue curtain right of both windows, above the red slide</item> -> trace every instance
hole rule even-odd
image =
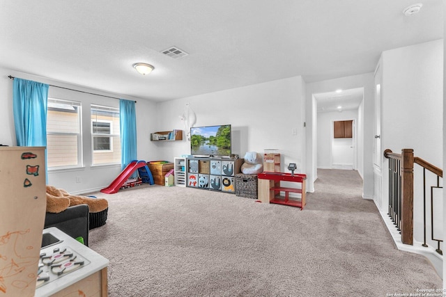
[[[137,114],[134,101],[119,99],[121,168],[137,160]]]

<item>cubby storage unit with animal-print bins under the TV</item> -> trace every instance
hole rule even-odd
[[[236,193],[235,176],[237,173],[240,173],[243,161],[243,159],[224,159],[216,157],[187,158],[186,186]]]

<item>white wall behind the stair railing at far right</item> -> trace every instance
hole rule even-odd
[[[443,164],[443,40],[384,51],[382,55],[382,150],[415,156],[440,167]],[[382,209],[387,209],[388,168],[383,158]],[[414,170],[414,237],[422,241],[422,170]],[[427,176],[428,185],[432,177]],[[430,188],[427,190],[430,194]],[[428,205],[429,207],[429,205]],[[439,209],[443,207],[438,206]]]

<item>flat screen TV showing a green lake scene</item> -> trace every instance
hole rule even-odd
[[[193,156],[230,156],[231,125],[190,128],[190,153]]]

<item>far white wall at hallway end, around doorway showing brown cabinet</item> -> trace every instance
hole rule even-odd
[[[337,120],[355,121],[355,141],[357,142],[357,114],[358,110],[333,111],[317,114],[317,168],[332,168],[332,141],[333,141],[333,122]],[[353,138],[348,138],[353,141]],[[348,156],[347,156],[348,157]],[[357,160],[356,160],[357,163]],[[353,164],[352,164],[353,165]]]

